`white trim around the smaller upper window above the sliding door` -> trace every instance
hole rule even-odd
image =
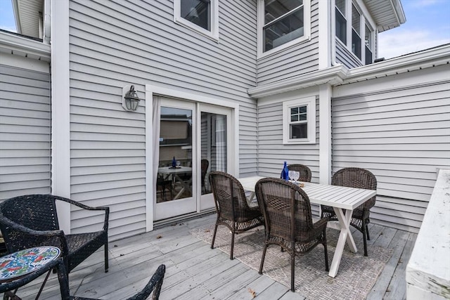
[[[211,31],[205,30],[185,18],[181,18],[181,0],[174,1],[174,22],[190,30],[198,32],[214,41],[219,41],[219,0],[211,0]]]

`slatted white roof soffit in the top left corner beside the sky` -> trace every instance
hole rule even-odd
[[[12,0],[15,27],[19,34],[39,39],[44,0]]]

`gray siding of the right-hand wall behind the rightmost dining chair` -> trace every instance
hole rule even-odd
[[[374,223],[420,228],[437,168],[450,168],[449,88],[446,79],[333,99],[333,171],[375,174]]]

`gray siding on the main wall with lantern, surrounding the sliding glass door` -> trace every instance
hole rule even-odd
[[[146,230],[146,84],[239,103],[240,176],[253,174],[256,3],[219,1],[219,43],[173,21],[173,1],[70,1],[71,194],[110,207],[110,239]],[[98,224],[72,212],[73,232]]]

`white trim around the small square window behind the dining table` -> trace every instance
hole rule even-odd
[[[307,107],[307,138],[290,138],[290,107]],[[298,98],[283,102],[283,144],[315,144],[316,143],[316,96]]]

